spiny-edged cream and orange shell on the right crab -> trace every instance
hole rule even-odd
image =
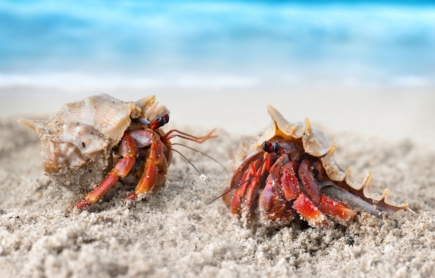
[[[379,211],[398,211],[408,209],[408,204],[396,204],[388,199],[388,189],[379,194],[370,190],[370,181],[372,173],[369,172],[362,183],[352,179],[351,168],[342,170],[334,159],[336,143],[330,144],[325,133],[320,129],[311,126],[308,119],[305,122],[288,122],[281,113],[272,106],[268,106],[268,113],[272,117],[270,128],[263,133],[260,138],[252,145],[250,152],[261,152],[262,144],[272,138],[295,138],[301,139],[304,151],[311,156],[320,158],[322,165],[327,172],[330,181],[321,184],[321,190],[331,197],[337,199],[346,199],[350,202],[359,203],[366,211],[378,213]],[[354,198],[357,196],[359,198]],[[364,204],[363,204],[364,203]]]

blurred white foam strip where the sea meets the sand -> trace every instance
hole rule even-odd
[[[379,87],[381,86],[381,87]],[[370,76],[340,74],[339,76],[312,75],[293,72],[284,76],[204,74],[190,72],[166,76],[128,76],[122,74],[83,74],[51,72],[44,74],[1,74],[0,95],[10,89],[61,92],[116,92],[160,89],[250,89],[250,88],[347,88],[351,92],[362,88],[435,88],[435,76],[396,75]],[[224,90],[222,92],[225,92]]]

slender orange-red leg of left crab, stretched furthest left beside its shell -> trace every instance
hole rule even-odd
[[[129,174],[131,168],[136,162],[138,147],[136,147],[136,142],[128,133],[124,133],[124,136],[122,136],[120,154],[122,155],[122,158],[117,161],[106,178],[101,181],[94,190],[88,193],[88,195],[79,202],[76,202],[73,207],[84,208],[85,206],[90,206],[90,204],[95,204],[115,185],[115,183],[117,183],[120,178],[124,179],[124,177]]]

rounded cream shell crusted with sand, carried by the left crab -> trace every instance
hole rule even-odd
[[[19,120],[34,129],[42,143],[44,169],[59,183],[98,182],[107,172],[112,149],[120,142],[131,119],[147,120],[167,113],[155,96],[124,102],[95,95],[64,104],[48,120]]]

